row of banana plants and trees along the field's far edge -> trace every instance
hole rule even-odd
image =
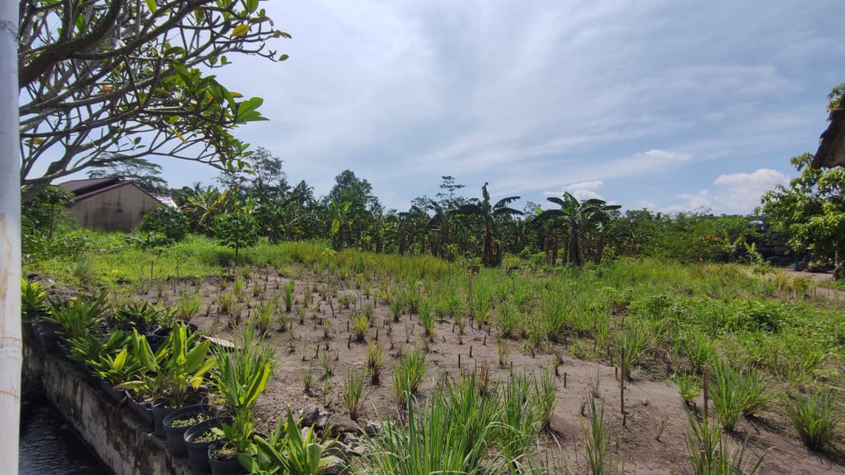
[[[282,160],[269,150],[259,148],[252,159],[251,173],[223,172],[216,186],[195,183],[168,189],[161,167],[137,159],[123,160],[120,167],[94,169],[89,175],[120,176],[150,192],[172,194],[178,208],[155,208],[139,225],[145,246],[166,245],[188,233],[215,236],[236,253],[261,238],[270,242],[327,239],[336,251],[355,248],[446,260],[469,258],[489,267],[499,266],[504,254],[519,255],[537,265],[576,267],[613,256],[787,264],[796,257],[827,259],[830,254],[823,246],[804,249],[806,243],[795,240],[795,233],[782,225],[786,212],[778,212],[773,205],[749,216],[668,214],[623,211],[619,204],[579,200],[564,192],[561,197],[547,198],[551,208],[528,202],[516,209],[511,205],[520,197],[493,201],[488,183],[476,197],[467,197],[466,186],[447,175],[442,176],[434,197],[416,197],[408,209],[400,211],[385,209],[371,184],[352,170],[335,176],[330,192],[316,197],[306,181],[292,185]],[[25,234],[44,235],[37,229],[52,226],[48,223],[63,196],[48,188],[41,198],[27,203],[30,225]],[[769,195],[766,200],[784,202]]]

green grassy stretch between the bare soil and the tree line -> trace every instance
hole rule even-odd
[[[486,346],[495,344],[499,362],[504,367],[510,365],[509,351],[515,344],[510,340],[493,343],[497,337],[514,338],[524,345],[521,351],[532,353],[542,353],[551,344],[565,343],[565,348],[553,349],[584,359],[606,361],[610,356],[614,364],[623,359],[619,349],[625,348],[625,377],[635,365],[649,370],[650,377],[659,378],[663,371],[662,375],[667,378],[683,375],[676,382],[684,400],[690,402],[698,396],[701,377],[713,368],[711,395],[714,404],[721,407],[717,408],[717,413],[723,413],[720,418],[726,421],[723,424],[726,430],[739,424],[743,416],[759,413],[760,408],[780,413],[786,413],[788,409],[788,415],[804,420],[801,426],[808,429],[806,432],[817,432],[824,439],[825,428],[830,426],[815,422],[842,417],[836,403],[841,398],[839,394],[825,397],[808,394],[784,408],[773,402],[769,396],[772,391],[766,389],[772,387],[777,392],[786,389],[792,393],[794,388],[815,381],[836,381],[841,377],[837,363],[845,357],[842,345],[845,342],[845,314],[842,312],[845,306],[837,301],[814,299],[812,292],[806,292],[806,283],[781,273],[752,272],[750,267],[734,264],[684,265],[653,258],[641,262],[620,258],[581,270],[569,267],[532,269],[526,265],[520,272],[507,274],[504,269],[482,269],[473,281],[471,314],[466,262],[460,259],[450,263],[428,256],[328,252],[326,243],[322,242],[279,245],[259,242],[257,246],[241,251],[244,265],[235,269],[230,267],[233,251],[202,236],[191,236],[159,252],[120,246],[119,236],[92,235],[95,236],[92,239],[101,239],[107,247],[98,247],[96,243],[92,246],[93,251],[85,254],[87,262],[81,264],[89,267],[83,269],[85,272],[74,275],[80,260],[73,257],[27,262],[24,272],[47,274],[59,285],[85,292],[109,289],[113,294],[140,293],[144,298],[155,298],[156,290],[170,294],[170,283],[182,282],[172,279],[177,277],[178,267],[181,279],[221,280],[210,311],[213,312],[216,306],[223,314],[240,314],[243,310],[247,315],[248,305],[253,305],[253,320],[259,324],[260,314],[266,311],[264,306],[269,305],[273,290],[265,286],[264,303],[256,304],[256,300],[250,303],[250,295],[256,291],[255,283],[248,275],[250,271],[254,273],[258,268],[275,272],[278,269],[286,278],[315,274],[322,280],[313,288],[310,284],[298,284],[302,300],[297,305],[296,315],[303,324],[305,316],[314,313],[316,305],[311,305],[314,293],[326,297],[335,294],[338,297],[334,301],[335,311],[343,310],[343,303],[338,305],[343,296],[357,294],[359,298],[366,296],[367,299],[362,298],[358,305],[357,300],[347,297],[352,309],[345,310],[346,313],[341,314],[344,317],[360,310],[373,328],[376,311],[373,305],[380,307],[384,302],[389,307],[378,308],[378,311],[389,312],[389,321],[392,316],[402,325],[413,327],[412,319],[417,318],[418,311],[419,324],[429,339],[433,337],[434,329],[438,329],[437,342],[443,337],[461,342],[466,339],[465,343],[472,344],[475,337],[472,329],[470,332],[464,329],[467,319],[489,320],[498,328],[493,329]],[[328,279],[330,287],[324,285]],[[286,294],[290,294],[293,300],[292,281],[287,282],[281,287],[277,285],[275,294],[281,294],[286,300]],[[208,281],[203,284],[207,286]],[[199,285],[199,279],[194,285]],[[290,291],[287,285],[290,285]],[[351,291],[352,287],[360,287],[361,293]],[[153,294],[149,293],[150,289]],[[810,297],[804,297],[804,294]],[[375,298],[377,295],[382,298]],[[371,300],[371,296],[374,299]],[[328,309],[330,302],[322,301],[321,305]],[[488,305],[486,311],[484,305]],[[186,315],[190,313],[190,309],[185,312]],[[412,315],[406,315],[408,313]],[[237,325],[237,319],[235,321]],[[381,322],[379,316],[374,330]],[[437,327],[435,322],[445,324],[445,327]],[[280,317],[281,325],[288,323]],[[449,330],[452,323],[454,334]],[[332,327],[334,332],[340,332],[338,323],[333,323]],[[357,327],[363,329],[363,320],[360,326],[350,328],[355,337]],[[401,327],[394,326],[393,331],[399,340]],[[384,330],[381,335],[384,336]],[[301,338],[298,342],[292,334],[288,338],[292,347],[303,348]],[[384,342],[389,344],[386,339]],[[480,347],[475,344],[478,350]],[[610,354],[606,353],[608,350]],[[401,386],[395,396],[403,406],[407,402],[406,394],[413,393],[412,386],[416,391],[426,371],[424,363],[420,370],[409,362],[413,351],[403,348],[404,355],[395,363],[395,384]],[[334,357],[335,352],[331,352],[331,358]],[[367,358],[371,381],[378,382],[385,359],[381,347],[368,344]],[[415,358],[425,359],[424,355]],[[323,359],[322,366],[327,372],[332,365],[329,354],[324,352]],[[730,360],[731,366],[716,374],[719,359]],[[405,374],[396,374],[402,372]],[[542,381],[538,386],[542,386]],[[826,402],[827,399],[831,402]],[[537,405],[538,411],[539,407]],[[833,416],[827,416],[827,413]],[[499,420],[497,424],[504,422]],[[815,425],[820,429],[813,429]],[[834,424],[834,432],[835,429]],[[798,429],[798,432],[804,430]],[[824,443],[818,446],[824,446]]]

